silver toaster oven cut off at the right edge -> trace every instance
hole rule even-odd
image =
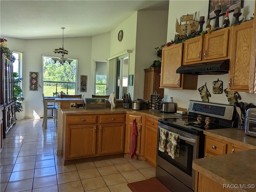
[[[256,137],[256,108],[246,111],[245,134]]]

